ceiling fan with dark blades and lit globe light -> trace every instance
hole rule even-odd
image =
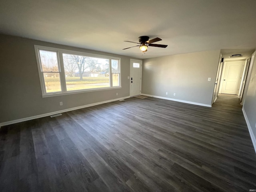
[[[161,41],[161,40],[162,39],[160,39],[158,37],[149,40],[148,36],[140,36],[139,37],[139,43],[138,42],[133,42],[133,41],[124,41],[124,42],[140,44],[140,45],[136,45],[136,46],[132,46],[132,47],[140,47],[140,50],[142,50],[142,52],[146,52],[148,50],[148,46],[166,48],[168,45],[152,44],[154,42],[158,42],[158,41]],[[128,47],[128,48],[125,48],[125,49],[129,49],[129,48],[132,48],[132,47]],[[125,50],[125,49],[123,49],[123,50]]]

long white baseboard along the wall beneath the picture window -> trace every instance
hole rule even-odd
[[[72,110],[76,110],[76,109],[86,108],[86,107],[90,107],[90,106],[94,106],[94,105],[99,105],[99,104],[113,102],[113,101],[117,101],[117,100],[121,100],[121,99],[127,99],[127,98],[130,98],[130,96],[122,97],[122,98],[118,98],[118,99],[107,100],[107,101],[102,101],[102,102],[98,102],[98,103],[92,103],[92,104],[73,107],[73,108],[68,108],[68,109],[64,109],[64,110],[60,110],[60,111],[55,111],[55,112],[45,113],[45,114],[41,114],[41,115],[26,117],[26,118],[22,118],[22,119],[16,119],[16,120],[12,120],[12,121],[2,122],[2,123],[0,123],[0,128],[1,128],[1,126],[5,126],[5,125],[10,125],[10,124],[19,123],[19,122],[23,122],[23,121],[28,121],[28,120],[32,120],[32,119],[37,119],[37,118],[41,118],[41,117],[47,117],[47,116],[51,116],[51,115],[58,114],[58,113],[68,112],[68,111],[72,111]]]

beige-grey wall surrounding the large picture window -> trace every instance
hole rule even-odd
[[[34,44],[120,57],[122,88],[42,98]],[[0,122],[129,96],[127,76],[130,76],[130,57],[127,56],[0,35]]]

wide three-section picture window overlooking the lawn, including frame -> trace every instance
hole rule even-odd
[[[43,96],[120,88],[120,58],[35,45]]]

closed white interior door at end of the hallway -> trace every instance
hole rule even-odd
[[[237,95],[241,84],[244,61],[229,61],[225,64],[221,93]]]

